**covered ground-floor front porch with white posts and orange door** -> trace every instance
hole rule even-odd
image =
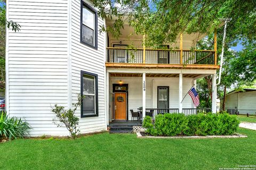
[[[206,75],[213,75],[215,87],[215,73],[215,70],[199,69],[107,68],[108,123],[142,120],[146,115],[154,118],[164,113],[215,113],[215,88],[212,91],[212,108],[196,108],[189,95],[182,101],[191,87],[196,88],[196,80]],[[132,112],[138,113],[139,117]]]

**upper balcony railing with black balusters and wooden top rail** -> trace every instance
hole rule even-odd
[[[143,48],[107,47],[108,63],[143,63]],[[181,64],[179,49],[146,49],[146,64]],[[214,65],[214,50],[182,50],[182,64]]]

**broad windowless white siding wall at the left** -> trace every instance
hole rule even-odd
[[[30,135],[68,135],[57,128],[54,104],[67,107],[68,0],[10,0],[9,20],[21,31],[8,32],[9,114],[22,117]]]

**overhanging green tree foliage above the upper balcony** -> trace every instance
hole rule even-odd
[[[96,0],[93,5],[102,18],[115,19],[106,31],[118,37],[125,22],[129,23],[135,34],[147,35],[150,47],[174,43],[181,32],[209,34],[225,18],[232,18],[228,30],[235,27],[240,35],[250,38],[256,32],[255,1]]]

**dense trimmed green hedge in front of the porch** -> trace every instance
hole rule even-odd
[[[164,114],[156,116],[154,125],[152,120],[149,121],[149,118],[145,123],[143,122],[143,127],[146,127],[144,126],[146,124],[146,132],[150,135],[230,135],[237,131],[239,121],[236,116],[226,113],[201,113],[189,116]]]

